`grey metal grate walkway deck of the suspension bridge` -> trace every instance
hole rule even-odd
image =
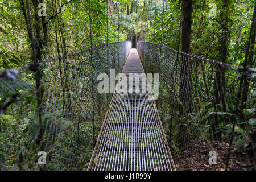
[[[135,48],[122,73],[144,73]],[[154,100],[117,93],[98,137],[89,170],[175,170]]]

